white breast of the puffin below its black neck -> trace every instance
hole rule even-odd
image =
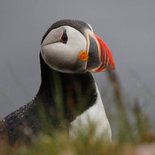
[[[71,137],[74,138],[78,136],[79,133],[89,134],[90,128],[94,125],[95,131],[94,135],[91,135],[92,138],[102,137],[106,141],[111,141],[110,124],[97,85],[96,91],[97,100],[95,104],[71,122],[69,130],[69,135]]]

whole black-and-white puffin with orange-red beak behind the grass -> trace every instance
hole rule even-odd
[[[41,84],[34,99],[0,121],[0,140],[29,143],[41,133],[65,130],[111,141],[111,127],[92,73],[114,70],[106,43],[80,20],[59,20],[40,45]]]

